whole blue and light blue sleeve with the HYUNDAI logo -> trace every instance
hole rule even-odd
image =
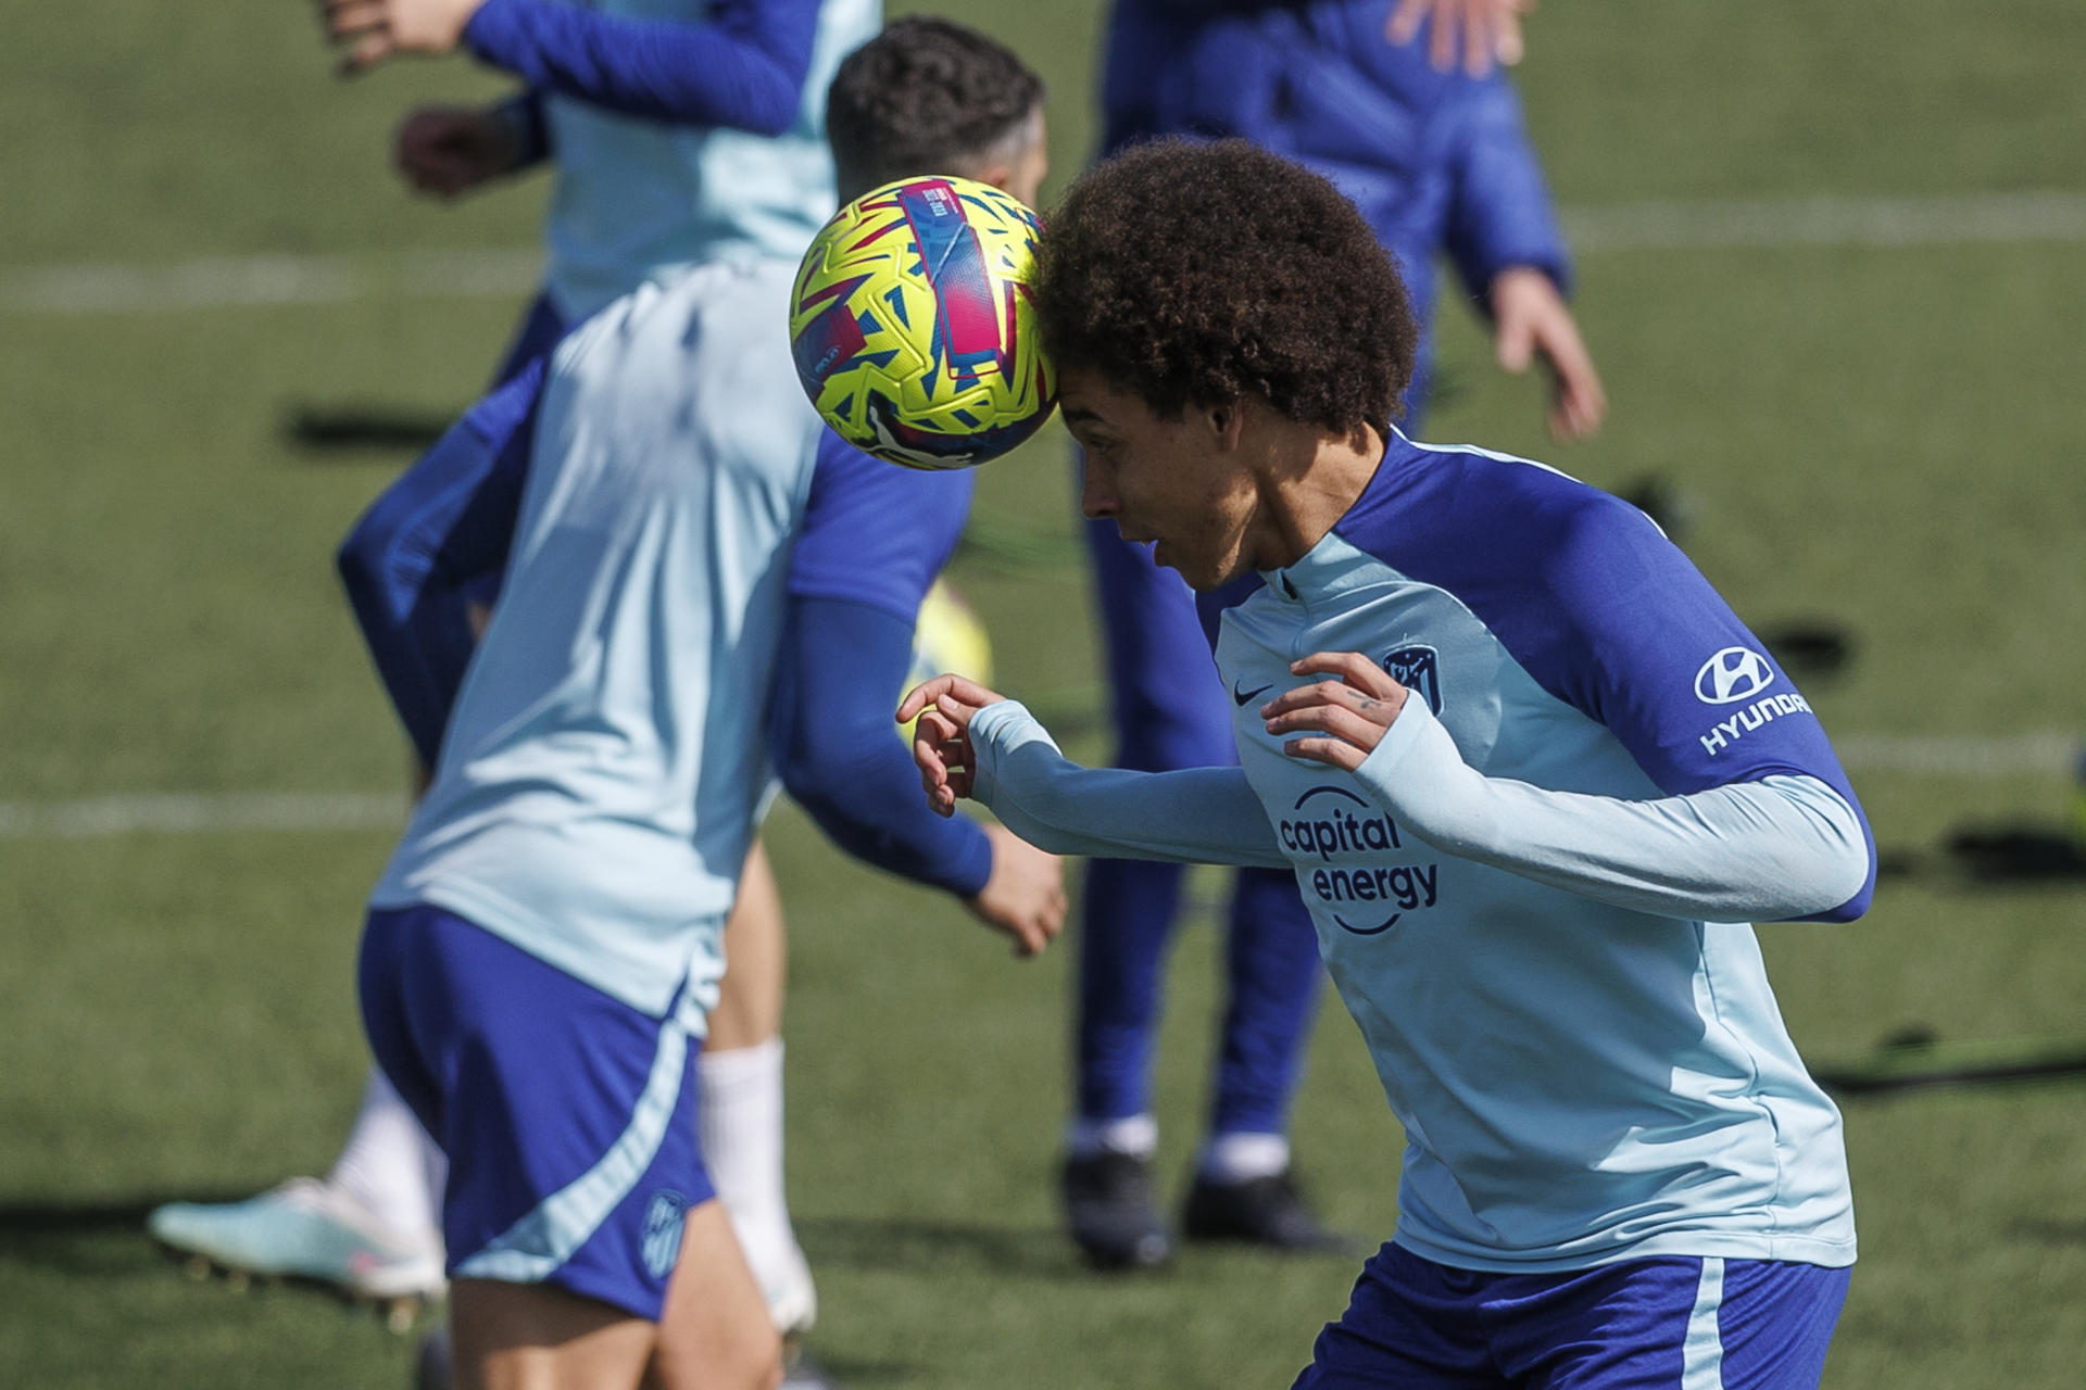
[[[1456,592],[1665,798],[1479,777],[1412,700],[1358,781],[1431,844],[1623,907],[1715,921],[1867,911],[1875,838],[1823,725],[1767,646],[1627,502],[1560,483],[1533,515],[1525,531],[1496,538],[1519,563],[1494,571],[1512,577]]]

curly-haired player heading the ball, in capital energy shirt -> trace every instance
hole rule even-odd
[[[1788,675],[1635,508],[1414,444],[1404,288],[1323,179],[1149,144],[1045,223],[1083,508],[1193,588],[1241,767],[1089,771],[939,677],[930,802],[1076,854],[1287,867],[1406,1132],[1396,1238],[1300,1386],[1811,1386],[1854,1261],[1840,1115],[1746,921],[1875,852]]]

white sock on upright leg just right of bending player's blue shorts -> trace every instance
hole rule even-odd
[[[803,1332],[811,1325],[816,1296],[782,1192],[782,1040],[705,1050],[697,1067],[703,1167],[768,1294],[776,1327]]]

